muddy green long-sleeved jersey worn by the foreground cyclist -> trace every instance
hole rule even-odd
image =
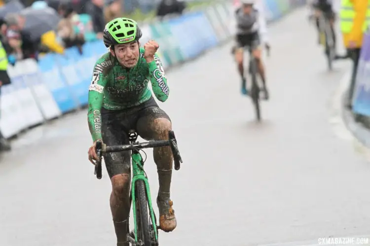
[[[102,139],[101,109],[122,110],[138,106],[152,96],[164,102],[169,95],[162,62],[155,54],[154,61],[147,63],[144,48],[140,48],[138,63],[132,68],[122,67],[110,53],[96,62],[89,87],[88,122],[93,141]]]

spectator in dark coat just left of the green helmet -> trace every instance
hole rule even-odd
[[[104,0],[91,0],[86,3],[86,14],[92,18],[94,32],[97,38],[103,38],[103,31],[106,25],[103,13]]]

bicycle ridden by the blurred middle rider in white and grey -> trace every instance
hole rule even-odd
[[[256,58],[252,55],[252,51],[255,50],[257,46],[258,46],[258,41],[256,40],[252,42],[251,46],[244,46],[243,49],[244,51],[249,52],[249,71],[248,72],[252,77],[252,87],[251,87],[250,96],[251,96],[251,99],[252,99],[252,102],[253,102],[253,105],[256,111],[256,118],[258,121],[260,121],[261,120],[261,110],[259,106],[259,101],[260,101],[259,92],[261,90],[260,90],[258,79],[257,79],[258,77],[257,75],[259,75],[259,70],[257,68]],[[267,56],[269,56],[269,54],[270,54],[270,49],[267,49]]]

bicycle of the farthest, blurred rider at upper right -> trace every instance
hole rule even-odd
[[[329,70],[333,70],[333,61],[335,59],[335,46],[333,38],[333,29],[330,24],[330,13],[320,12],[319,15],[319,35],[320,44],[325,47],[325,55],[328,61]]]

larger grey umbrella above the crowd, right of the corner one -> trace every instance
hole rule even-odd
[[[55,30],[60,21],[58,13],[50,7],[25,8],[20,13],[26,19],[23,31],[29,33],[32,40],[36,40],[47,31]]]

